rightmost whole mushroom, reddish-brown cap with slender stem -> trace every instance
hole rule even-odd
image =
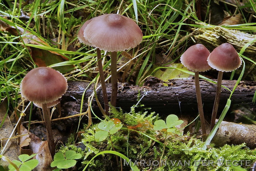
[[[231,72],[239,68],[242,64],[241,58],[238,56],[236,49],[230,43],[223,43],[216,47],[208,56],[208,64],[219,71],[217,80],[216,96],[212,110],[211,130],[215,125],[215,119],[219,106],[219,99],[221,96],[221,82],[223,72]]]

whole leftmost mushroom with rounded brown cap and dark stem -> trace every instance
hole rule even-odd
[[[48,146],[52,157],[55,154],[55,144],[50,124],[49,107],[60,102],[60,98],[67,88],[67,79],[58,71],[48,67],[32,69],[20,84],[20,94],[42,108]]]

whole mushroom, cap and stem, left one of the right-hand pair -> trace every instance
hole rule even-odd
[[[204,45],[196,44],[189,47],[180,57],[180,61],[185,67],[195,71],[196,99],[203,135],[206,134],[206,126],[199,85],[199,72],[204,72],[211,69],[211,66],[209,66],[207,63],[207,57],[209,54],[209,50]]]

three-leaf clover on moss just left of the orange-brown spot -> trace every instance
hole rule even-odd
[[[119,119],[118,119],[119,120]],[[105,140],[108,135],[116,133],[122,128],[121,122],[114,123],[113,121],[103,121],[99,123],[98,128],[101,129],[95,133],[95,138],[99,141]]]

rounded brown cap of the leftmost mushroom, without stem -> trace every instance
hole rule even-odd
[[[66,92],[67,79],[58,71],[48,67],[34,68],[20,84],[21,95],[31,102],[51,103]]]

